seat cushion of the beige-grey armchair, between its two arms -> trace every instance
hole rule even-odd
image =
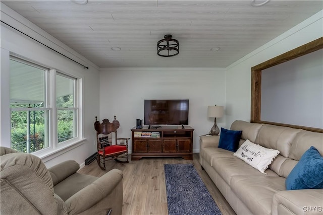
[[[75,173],[54,186],[54,192],[59,195],[63,201],[66,201],[69,197],[91,184],[96,179],[98,178],[91,175]]]

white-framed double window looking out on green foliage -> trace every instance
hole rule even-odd
[[[11,57],[11,148],[42,154],[80,139],[79,81]]]

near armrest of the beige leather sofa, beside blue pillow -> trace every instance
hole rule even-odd
[[[272,214],[322,214],[323,189],[285,190],[274,194]]]

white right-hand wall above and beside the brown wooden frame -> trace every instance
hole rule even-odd
[[[318,12],[232,65],[226,73],[226,127],[250,121],[251,67],[323,36],[323,11]],[[310,111],[310,110],[308,110]]]

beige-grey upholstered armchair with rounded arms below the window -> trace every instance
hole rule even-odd
[[[1,147],[1,214],[122,213],[123,173],[103,176],[76,173],[66,161],[47,169],[41,159]]]

